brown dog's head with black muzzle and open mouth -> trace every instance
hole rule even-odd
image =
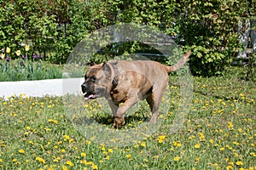
[[[84,99],[96,99],[106,96],[109,93],[110,85],[110,65],[91,65],[84,75],[84,83],[81,85]]]

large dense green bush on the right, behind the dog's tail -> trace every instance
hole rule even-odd
[[[238,21],[241,16],[253,14],[253,4],[246,0],[182,2],[178,43],[194,52],[189,60],[192,72],[202,76],[221,74],[241,48]]]

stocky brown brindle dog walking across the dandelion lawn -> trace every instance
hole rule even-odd
[[[135,105],[138,99],[146,99],[155,123],[159,116],[161,98],[168,82],[168,72],[177,71],[189,58],[191,51],[176,65],[166,66],[151,60],[111,60],[92,65],[84,76],[82,91],[84,99],[105,97],[111,107],[113,127],[125,125],[125,111]],[[123,105],[119,105],[123,103]]]

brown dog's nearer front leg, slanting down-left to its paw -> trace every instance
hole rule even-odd
[[[125,112],[135,105],[138,101],[138,90],[130,89],[127,94],[127,99],[123,105],[120,105],[116,113],[113,115],[113,127],[122,127],[125,125]]]

